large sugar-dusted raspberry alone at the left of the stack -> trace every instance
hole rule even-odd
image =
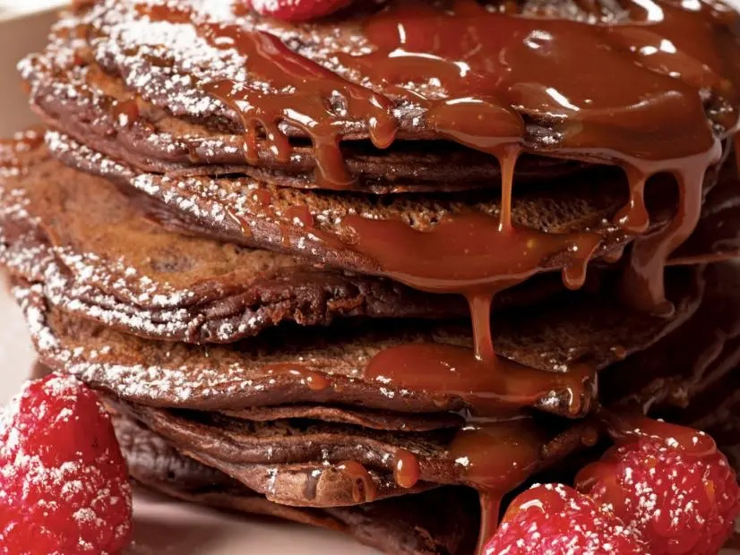
[[[26,384],[0,417],[0,552],[121,551],[131,489],[95,393],[51,374]]]

